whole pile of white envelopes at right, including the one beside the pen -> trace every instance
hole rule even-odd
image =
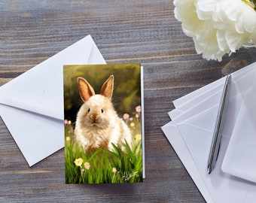
[[[207,202],[256,201],[256,63],[234,72],[216,166],[207,173],[225,77],[173,102],[162,127]]]

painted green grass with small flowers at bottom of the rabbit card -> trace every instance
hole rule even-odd
[[[135,126],[138,124],[136,123]],[[113,144],[114,151],[96,149],[86,153],[72,139],[74,137],[72,124],[66,124],[66,183],[142,182],[142,141],[141,139],[136,141],[136,135],[138,131],[133,130],[132,149],[128,144],[123,145],[123,150]]]

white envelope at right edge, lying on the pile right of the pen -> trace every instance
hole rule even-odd
[[[222,163],[222,171],[256,183],[256,85],[242,99]]]

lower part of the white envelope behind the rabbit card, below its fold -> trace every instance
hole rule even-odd
[[[0,114],[29,166],[64,147],[61,120],[0,105]]]

